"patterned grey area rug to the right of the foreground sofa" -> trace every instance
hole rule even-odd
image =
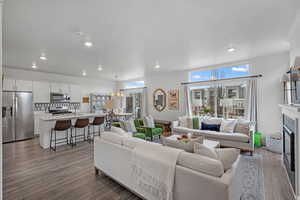
[[[241,177],[241,200],[265,200],[262,156],[241,156],[238,177]]]

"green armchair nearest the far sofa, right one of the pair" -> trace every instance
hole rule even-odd
[[[164,126],[161,124],[155,124],[155,128],[146,127],[142,119],[135,119],[134,125],[138,132],[145,133],[146,139],[150,139],[151,141],[154,137],[158,136],[160,138],[164,130]]]

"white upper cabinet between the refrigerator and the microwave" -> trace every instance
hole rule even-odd
[[[50,83],[48,82],[33,82],[33,101],[35,103],[50,102]]]

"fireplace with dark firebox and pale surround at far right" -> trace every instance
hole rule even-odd
[[[296,121],[283,115],[283,162],[295,191],[295,133]]]

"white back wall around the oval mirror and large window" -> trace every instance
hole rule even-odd
[[[289,68],[289,53],[282,52],[274,55],[203,68],[231,66],[241,63],[249,63],[251,65],[251,74],[263,75],[258,81],[258,131],[266,135],[281,131],[281,114],[278,104],[283,103],[283,88],[280,80],[282,75]],[[149,114],[156,119],[165,120],[176,120],[179,116],[186,114],[184,90],[181,83],[189,81],[188,72],[189,71],[161,72],[144,78],[145,85],[148,88]],[[118,87],[123,87],[122,83],[119,83]],[[162,112],[157,112],[154,109],[152,94],[157,88],[162,88],[166,92],[169,89],[180,89],[178,111],[171,111],[166,108]]]

